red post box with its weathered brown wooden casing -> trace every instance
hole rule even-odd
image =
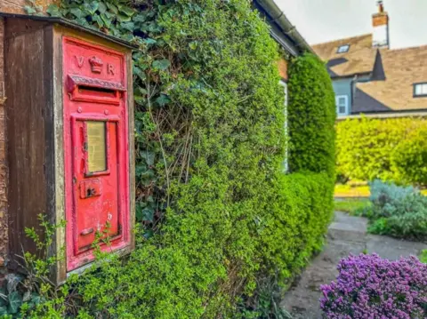
[[[44,213],[63,282],[101,250],[133,249],[132,46],[65,20],[4,14],[11,257]],[[108,241],[104,240],[107,239]],[[108,242],[108,243],[107,243]]]

